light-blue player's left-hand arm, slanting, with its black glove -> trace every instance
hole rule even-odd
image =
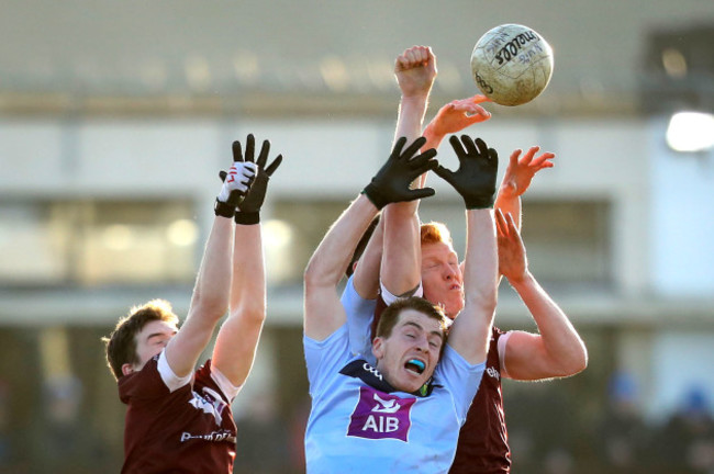
[[[397,140],[391,156],[371,182],[327,230],[313,253],[304,274],[304,331],[314,340],[324,340],[345,323],[337,285],[350,257],[379,210],[392,202],[411,201],[434,194],[432,189],[411,190],[410,183],[437,166],[436,150],[414,156],[424,144],[420,138],[404,148]]]

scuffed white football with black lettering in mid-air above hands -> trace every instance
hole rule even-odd
[[[553,76],[553,48],[533,29],[503,24],[489,30],[471,53],[471,72],[481,92],[501,105],[538,97]]]

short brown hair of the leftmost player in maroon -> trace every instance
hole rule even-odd
[[[124,374],[122,365],[138,362],[136,353],[136,335],[144,329],[147,323],[163,320],[178,325],[178,316],[174,314],[171,304],[165,300],[152,300],[141,306],[134,306],[129,315],[116,323],[116,327],[109,337],[103,337],[107,345],[107,365],[119,380]]]

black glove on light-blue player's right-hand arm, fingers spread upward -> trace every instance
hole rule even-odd
[[[493,207],[499,155],[481,138],[473,142],[468,135],[461,135],[461,142],[451,136],[449,143],[459,158],[459,169],[450,171],[439,166],[434,172],[461,194],[467,210]]]

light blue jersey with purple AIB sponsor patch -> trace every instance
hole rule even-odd
[[[350,353],[347,325],[323,341],[304,337],[303,343],[312,397],[305,431],[309,474],[448,471],[483,363],[469,364],[447,345],[433,392],[420,397],[382,392],[341,373],[359,359]],[[355,364],[381,380],[366,362]]]

